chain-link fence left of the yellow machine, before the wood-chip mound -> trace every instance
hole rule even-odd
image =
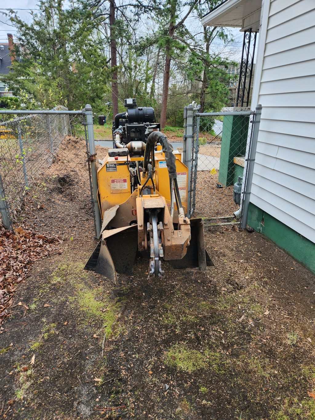
[[[90,108],[0,110],[0,210],[5,228],[12,230],[21,221],[30,202],[41,211],[56,201],[66,206],[74,194],[85,192],[91,194],[94,216],[98,213],[92,124]]]

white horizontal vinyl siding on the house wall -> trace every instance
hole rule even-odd
[[[250,201],[315,242],[315,0],[270,0],[258,54],[262,118]]]

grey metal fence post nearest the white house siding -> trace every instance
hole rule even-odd
[[[248,207],[249,207],[249,197],[252,188],[252,179],[254,173],[255,165],[255,155],[257,149],[257,139],[260,125],[260,116],[261,116],[262,106],[260,104],[256,107],[256,113],[254,115],[253,129],[252,129],[252,141],[249,144],[249,153],[247,158],[247,171],[245,176],[244,192],[243,192],[243,205],[241,212],[241,228],[246,229],[247,226],[247,216],[248,216]]]

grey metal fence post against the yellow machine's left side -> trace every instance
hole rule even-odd
[[[98,207],[98,181],[97,181],[97,163],[96,163],[96,153],[95,153],[95,141],[94,141],[94,131],[93,131],[93,114],[91,105],[85,105],[85,123],[87,126],[87,136],[89,139],[89,162],[91,164],[91,173],[92,173],[92,186],[93,186],[93,197],[92,201],[94,204],[94,216],[95,216],[95,233],[97,238],[100,236],[101,232],[101,215]]]

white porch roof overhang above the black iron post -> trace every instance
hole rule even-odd
[[[259,31],[262,0],[224,0],[201,18],[203,26],[227,26]]]

